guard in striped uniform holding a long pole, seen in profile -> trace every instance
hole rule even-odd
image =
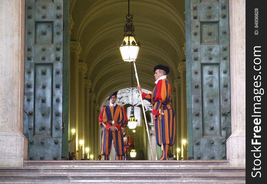
[[[168,150],[175,141],[175,112],[171,106],[172,86],[166,79],[169,67],[157,65],[154,67],[156,86],[152,94],[142,93],[142,98],[153,105],[152,118],[154,120],[154,132],[157,144],[161,146],[162,155],[159,160],[169,160]],[[137,91],[142,90],[137,86]]]

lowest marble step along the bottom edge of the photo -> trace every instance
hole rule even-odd
[[[106,171],[105,171],[106,172]],[[245,176],[222,176],[217,174],[209,175],[172,175],[172,174],[139,174],[125,175],[118,173],[117,175],[48,175],[48,176],[33,176],[33,175],[1,175],[1,184],[67,184],[67,183],[213,183],[213,184],[238,184],[246,183]]]

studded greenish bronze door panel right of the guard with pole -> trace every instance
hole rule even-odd
[[[230,129],[228,1],[191,0],[194,159],[226,159]]]

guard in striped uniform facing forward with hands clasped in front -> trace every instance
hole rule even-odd
[[[109,105],[104,105],[99,114],[99,125],[104,126],[101,155],[109,160],[112,140],[116,151],[116,160],[123,160],[124,142],[121,127],[127,126],[128,118],[123,106],[116,104],[117,91],[110,94],[107,99]]]

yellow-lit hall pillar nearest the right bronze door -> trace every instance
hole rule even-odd
[[[187,140],[187,109],[186,109],[186,66],[185,61],[178,64],[178,70],[181,77],[181,140]],[[181,148],[181,155],[184,160],[188,159],[187,152]]]

